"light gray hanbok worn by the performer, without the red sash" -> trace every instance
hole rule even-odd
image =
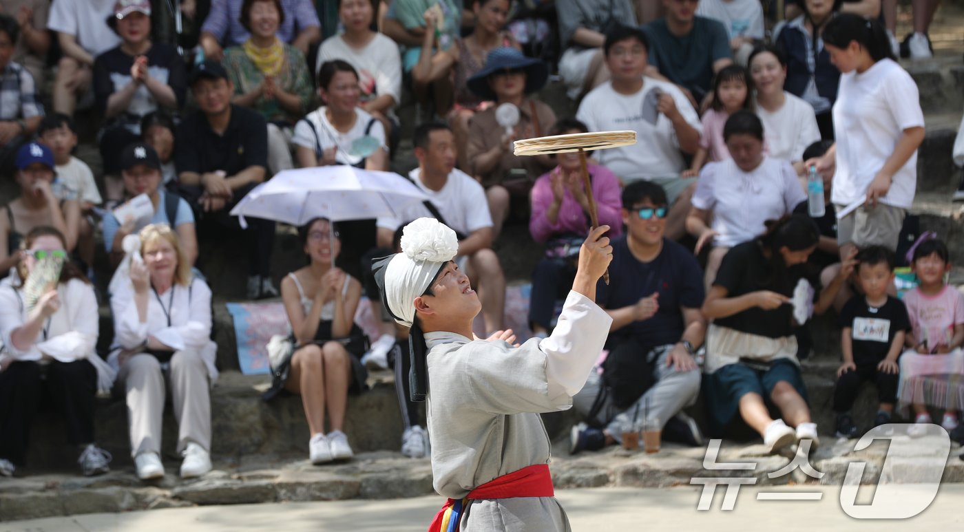
[[[568,410],[603,350],[612,319],[570,292],[552,334],[519,348],[426,332],[428,429],[437,492],[459,499],[522,467],[549,464],[538,412]],[[554,497],[471,501],[462,532],[571,530]]]

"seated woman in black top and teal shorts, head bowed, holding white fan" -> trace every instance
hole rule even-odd
[[[806,279],[799,266],[817,249],[818,239],[812,220],[793,215],[723,257],[703,304],[704,315],[713,320],[707,332],[704,391],[715,435],[722,435],[738,412],[763,436],[771,453],[804,439],[817,447],[817,424],[807,405],[788,304],[798,281]],[[844,273],[820,291],[815,314],[831,305],[853,265],[850,261]],[[781,418],[772,419],[768,408],[777,409]]]

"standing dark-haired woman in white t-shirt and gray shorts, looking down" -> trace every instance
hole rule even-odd
[[[874,19],[840,14],[823,29],[823,42],[843,72],[834,104],[837,143],[812,163],[817,172],[833,173],[838,212],[862,205],[838,221],[841,256],[873,244],[895,251],[917,190],[917,148],[924,142],[917,84],[894,61]]]

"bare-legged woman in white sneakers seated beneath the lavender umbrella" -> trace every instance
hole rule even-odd
[[[348,393],[362,391],[367,376],[359,361],[364,353],[364,333],[353,321],[362,298],[362,283],[335,268],[341,239],[331,222],[312,220],[298,230],[298,236],[308,255],[308,266],[281,280],[281,299],[296,347],[283,375],[276,377],[265,396],[273,397],[281,389],[302,396],[311,433],[309,459],[318,465],[354,456],[341,429]]]

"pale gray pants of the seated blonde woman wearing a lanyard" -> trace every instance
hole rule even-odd
[[[207,366],[201,354],[178,351],[171,358],[167,375],[171,385],[174,418],[177,419],[177,452],[189,441],[211,450],[211,396]],[[165,372],[156,358],[134,355],[120,366],[118,382],[127,397],[131,456],[161,452],[161,420],[166,392]]]

